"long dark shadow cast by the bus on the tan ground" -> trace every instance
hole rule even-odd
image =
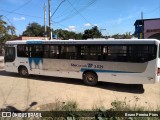
[[[0,76],[20,77],[19,74],[17,74],[17,73],[9,73],[9,72],[5,72],[4,70],[0,71]],[[72,79],[72,78],[60,78],[60,77],[31,75],[27,79],[84,86],[82,80]],[[91,86],[88,86],[88,87],[91,87]],[[143,88],[143,85],[141,85],[141,84],[136,85],[136,84],[118,84],[118,83],[109,83],[109,82],[99,82],[94,87],[106,89],[106,90],[118,91],[118,92],[128,92],[128,93],[136,93],[136,94],[144,93],[144,88]]]

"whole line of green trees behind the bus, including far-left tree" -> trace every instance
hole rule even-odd
[[[11,24],[9,25],[6,21],[4,21],[3,16],[0,16],[0,42],[5,42],[8,40],[15,39],[17,37],[15,32],[15,27]],[[26,27],[26,30],[19,36],[28,36],[28,37],[44,37],[45,34],[49,36],[49,27],[47,26],[47,33],[44,33],[44,26],[33,22],[29,23]],[[52,30],[54,35],[58,36],[58,39],[88,39],[88,38],[110,38],[113,37],[115,39],[130,39],[133,35],[130,35],[129,32],[125,34],[115,34],[115,35],[105,35],[103,36],[101,30],[94,26],[91,29],[86,29],[81,33],[76,33],[74,31],[69,30]]]

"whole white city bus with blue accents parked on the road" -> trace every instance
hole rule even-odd
[[[159,82],[159,41],[27,40],[7,41],[5,70],[29,74],[124,84]]]

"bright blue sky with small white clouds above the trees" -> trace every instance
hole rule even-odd
[[[29,23],[44,25],[44,4],[48,25],[48,0],[0,0],[0,15],[21,35]],[[132,34],[142,12],[160,18],[160,0],[51,0],[53,29],[76,33],[98,26],[103,35]]]

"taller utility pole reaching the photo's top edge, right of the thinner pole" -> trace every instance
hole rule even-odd
[[[50,29],[50,39],[52,40],[51,0],[48,0],[48,13],[49,13],[49,29]]]

